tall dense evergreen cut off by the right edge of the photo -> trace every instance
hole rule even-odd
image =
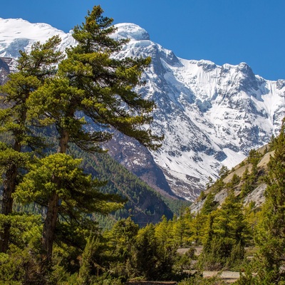
[[[274,140],[274,156],[268,164],[268,185],[265,203],[257,227],[256,242],[259,246],[257,256],[257,279],[260,284],[285,284],[285,125]],[[263,283],[262,283],[263,282]]]

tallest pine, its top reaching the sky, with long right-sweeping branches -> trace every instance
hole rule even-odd
[[[115,41],[113,19],[102,16],[100,6],[88,11],[85,23],[76,26],[77,46],[67,50],[67,58],[58,66],[56,78],[38,88],[28,102],[29,118],[36,124],[56,126],[58,153],[67,153],[70,143],[87,152],[100,152],[100,143],[112,138],[113,130],[156,149],[162,138],[143,125],[152,122],[155,103],[144,100],[134,88],[142,84],[140,76],[150,58],[117,59],[125,40]],[[51,261],[61,180],[52,177],[56,187],[48,196],[43,226],[43,251]]]

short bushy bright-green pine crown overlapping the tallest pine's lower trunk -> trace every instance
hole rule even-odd
[[[50,221],[47,222],[46,219],[43,225],[43,239],[46,239],[43,261],[48,265],[54,240],[80,247],[80,238],[79,241],[76,239],[78,234],[84,239],[84,231],[94,229],[94,223],[89,222],[90,219],[85,214],[108,214],[122,206],[118,202],[123,202],[123,199],[118,195],[98,191],[105,182],[92,180],[91,176],[86,175],[79,167],[80,163],[81,160],[62,153],[44,157],[31,165],[31,170],[16,190],[19,201],[41,205],[56,221],[55,224],[49,224]],[[53,203],[51,197],[56,197],[52,199]]]

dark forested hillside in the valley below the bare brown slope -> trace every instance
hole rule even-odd
[[[162,197],[145,182],[133,175],[116,162],[108,153],[86,154],[74,152],[83,158],[83,168],[99,180],[108,181],[101,190],[105,193],[118,194],[126,199],[125,207],[113,213],[112,219],[132,217],[140,226],[160,222],[162,215],[168,219],[178,214],[181,207],[189,202]]]

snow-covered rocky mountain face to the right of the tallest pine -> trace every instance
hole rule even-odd
[[[165,142],[152,155],[172,191],[191,199],[222,165],[233,167],[276,134],[284,117],[285,81],[255,76],[246,63],[217,66],[177,58],[145,32],[138,36],[140,28],[125,26],[133,30],[120,56],[152,57],[139,91],[157,103],[152,128],[165,134]],[[123,27],[119,37],[126,36]]]

